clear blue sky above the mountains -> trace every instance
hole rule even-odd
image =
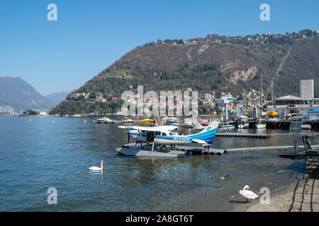
[[[51,3],[57,21],[47,20]],[[263,3],[270,21],[259,19]],[[20,76],[43,95],[74,90],[146,42],[315,30],[318,8],[318,0],[1,0],[0,75]]]

